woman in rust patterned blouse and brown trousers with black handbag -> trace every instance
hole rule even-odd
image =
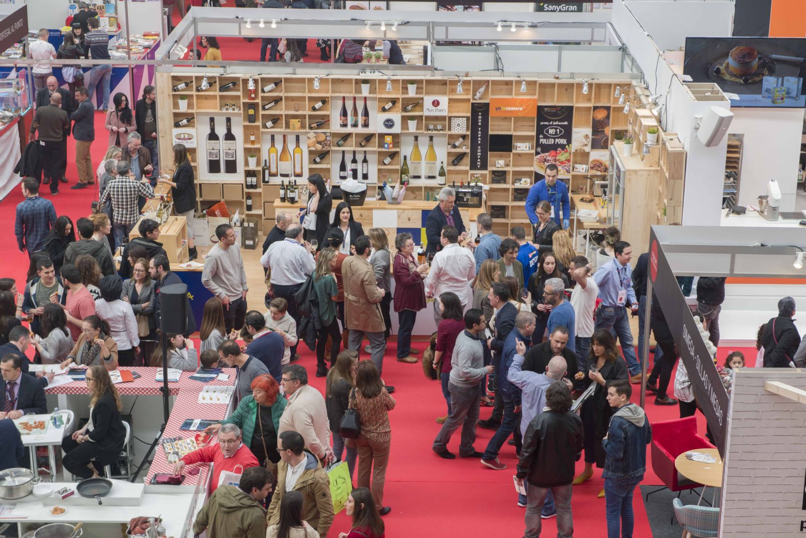
[[[350,396],[350,407],[355,408],[360,424],[355,439],[359,456],[358,486],[370,488],[380,515],[392,511],[391,507],[384,507],[383,502],[386,466],[392,444],[388,412],[395,408],[395,403],[395,399],[386,391],[375,364],[372,361],[359,362],[355,369],[355,389]]]

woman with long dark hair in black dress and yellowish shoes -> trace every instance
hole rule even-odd
[[[587,372],[580,372],[577,376],[587,389],[591,383],[596,383],[596,390],[590,398],[582,404],[582,424],[585,448],[585,470],[574,478],[574,485],[579,485],[593,476],[593,464],[605,467],[605,449],[602,439],[607,435],[610,417],[615,410],[607,402],[607,385],[612,379],[629,379],[627,363],[618,354],[616,340],[608,330],[599,329],[591,337],[591,350],[588,353]],[[605,490],[601,490],[600,497],[604,497]]]

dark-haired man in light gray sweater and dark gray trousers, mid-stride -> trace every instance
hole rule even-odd
[[[484,391],[484,375],[492,374],[492,366],[484,366],[484,342],[479,333],[484,332],[487,321],[480,308],[470,308],[464,312],[465,330],[456,337],[451,355],[451,379],[448,391],[451,392],[451,416],[448,416],[432,449],[440,457],[454,459],[448,452],[447,444],[453,433],[462,427],[462,441],[459,443],[459,457],[481,457],[473,443],[476,441],[476,420],[479,420],[479,404]]]

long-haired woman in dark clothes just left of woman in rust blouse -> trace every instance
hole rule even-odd
[[[330,436],[333,437],[333,454],[339,461],[344,450],[347,449],[347,469],[350,478],[355,470],[355,458],[358,451],[355,443],[347,445],[341,436],[339,426],[342,424],[344,412],[350,407],[350,391],[355,387],[355,368],[358,366],[358,352],[344,350],[339,353],[336,362],[327,372],[325,385],[325,404],[327,407],[327,420],[330,422]]]

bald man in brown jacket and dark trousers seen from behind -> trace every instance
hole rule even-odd
[[[51,194],[59,193],[59,180],[67,165],[64,152],[64,131],[69,131],[70,120],[61,109],[61,94],[53,93],[48,106],[36,110],[28,139],[39,133],[39,162],[44,163],[45,179],[50,181]]]

